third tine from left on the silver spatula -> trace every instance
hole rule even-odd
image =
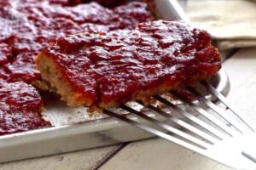
[[[139,104],[143,105],[141,102],[138,102]],[[184,127],[186,128],[187,130],[189,130],[190,132],[192,133],[195,133],[197,134],[198,136],[200,136],[201,138],[203,139],[206,139],[210,144],[214,144],[217,142],[217,140],[215,138],[213,138],[211,135],[201,131],[199,128],[197,127],[194,127],[192,125],[190,125],[189,123],[187,122],[184,122],[183,120],[181,119],[178,119],[174,116],[172,116],[171,114],[168,114],[166,113],[166,111],[162,111],[156,107],[154,107],[154,105],[147,105],[147,107],[149,109],[151,109],[152,111],[162,115],[162,116],[165,116],[166,118],[168,118],[168,120],[171,120],[172,122],[175,122],[177,123],[178,125],[180,125],[181,127]]]

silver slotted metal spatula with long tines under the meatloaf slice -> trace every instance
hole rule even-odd
[[[154,105],[145,106],[150,111],[166,117],[166,120],[169,122],[155,119],[154,116],[148,116],[142,111],[137,111],[127,105],[121,105],[120,108],[150,122],[154,126],[150,126],[148,123],[137,122],[134,119],[130,119],[129,116],[120,115],[113,111],[104,110],[104,113],[127,122],[132,126],[139,127],[148,133],[153,133],[160,138],[181,145],[184,148],[193,150],[203,156],[207,156],[226,166],[236,169],[256,169],[256,146],[254,145],[256,144],[256,128],[253,126],[253,123],[246,116],[231,109],[233,107],[230,105],[230,102],[224,95],[213,88],[210,83],[204,81],[201,84],[212,94],[212,97],[218,99],[218,102],[223,103],[226,108],[224,109],[217,105],[216,102],[212,102],[211,99],[202,95],[195,88],[188,87],[186,90],[193,94],[193,99],[197,102],[192,102],[183,95],[170,91],[172,96],[186,105],[185,110],[178,105],[174,105],[173,101],[160,95],[154,96],[154,99],[171,109],[171,113]],[[143,105],[139,101],[137,103]],[[196,111],[198,116],[187,111],[188,108]],[[209,109],[212,111],[209,111]],[[173,115],[173,112],[178,113],[182,117]]]

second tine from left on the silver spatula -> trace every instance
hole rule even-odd
[[[189,133],[184,133],[183,131],[175,128],[175,127],[172,127],[164,122],[160,122],[150,116],[147,116],[146,114],[143,114],[139,111],[136,111],[130,107],[128,107],[127,105],[121,105],[121,108],[124,109],[125,111],[129,111],[131,112],[132,114],[135,114],[137,116],[140,116],[142,117],[143,119],[146,119],[148,122],[152,122],[154,123],[155,125],[158,125],[159,127],[162,127],[164,129],[166,129],[167,131],[171,132],[171,133],[175,133],[177,134],[178,136],[182,137],[183,139],[187,139],[195,144],[198,144],[199,146],[201,146],[202,148],[204,149],[207,149],[209,147],[209,144],[207,144],[205,141],[201,140],[201,139],[197,139],[195,138],[194,136],[190,135]]]

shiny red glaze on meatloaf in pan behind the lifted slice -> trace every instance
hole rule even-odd
[[[9,60],[7,66],[9,81],[12,82],[17,79],[17,71],[19,79],[26,82],[40,78],[32,58],[49,42],[55,41],[55,38],[79,31],[119,30],[117,32],[122,33],[124,30],[134,29],[140,22],[152,20],[145,3],[129,3],[108,9],[97,3],[73,7],[60,5],[67,3],[65,0],[4,2],[5,5],[0,6],[0,65],[8,62],[8,54],[5,53],[9,51],[13,57],[19,58]],[[8,47],[3,47],[6,44]]]

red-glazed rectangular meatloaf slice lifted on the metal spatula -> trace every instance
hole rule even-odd
[[[85,31],[61,37],[37,65],[67,105],[112,108],[214,75],[218,50],[183,21],[141,23],[128,35]]]

